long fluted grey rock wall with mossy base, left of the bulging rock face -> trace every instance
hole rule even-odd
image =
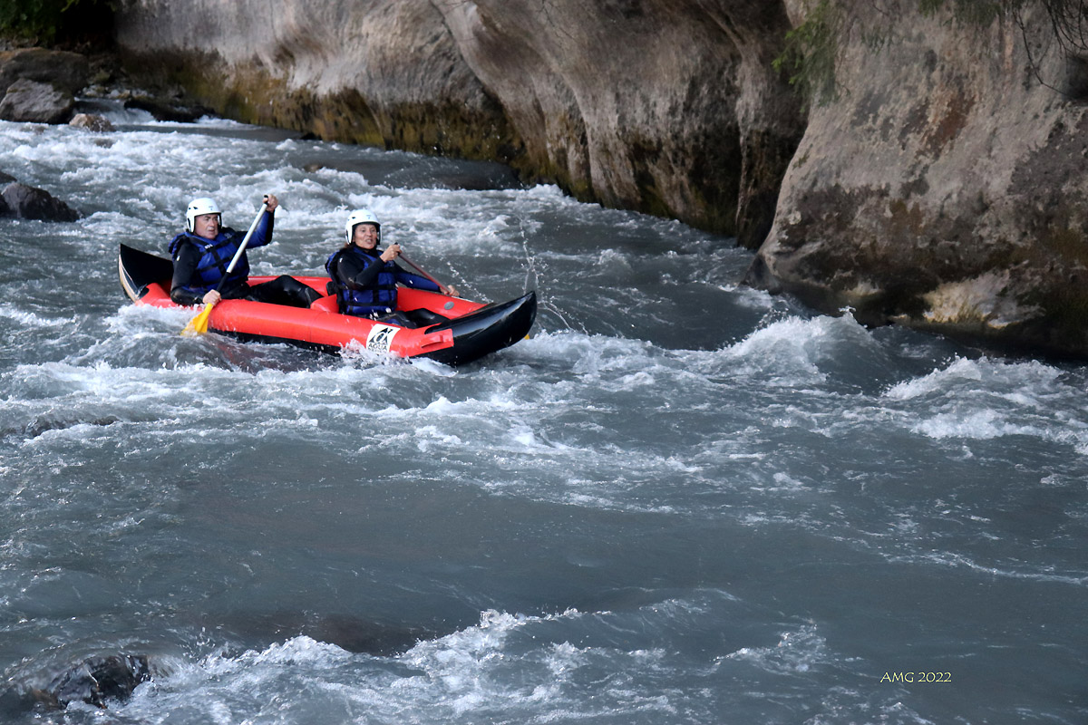
[[[510,163],[756,247],[803,130],[763,0],[141,0],[134,72],[233,117]]]

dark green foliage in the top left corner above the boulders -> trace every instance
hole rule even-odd
[[[112,35],[121,0],[0,0],[0,36],[41,45]]]

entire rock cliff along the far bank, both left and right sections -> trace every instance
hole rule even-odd
[[[751,284],[821,310],[1088,354],[1088,53],[1041,2],[943,5],[133,0],[118,40],[232,117],[735,235]],[[772,60],[814,10],[839,93],[806,104]]]

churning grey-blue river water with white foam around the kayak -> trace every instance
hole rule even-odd
[[[0,123],[77,208],[0,220],[0,721],[1088,721],[1088,367],[867,330],[732,240],[505,170],[222,121]],[[119,242],[194,196],[255,274],[346,212],[472,299],[471,365],[178,335]],[[37,702],[88,659],[152,678]]]

